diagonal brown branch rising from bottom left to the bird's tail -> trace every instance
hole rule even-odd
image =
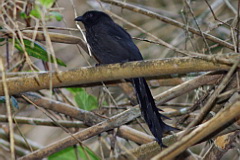
[[[46,146],[43,149],[32,152],[29,155],[20,158],[19,160],[42,159],[66,147],[77,144],[78,141],[76,141],[75,138],[79,139],[80,141],[83,141],[90,137],[96,136],[104,131],[108,131],[110,129],[119,127],[125,123],[132,121],[133,119],[139,116],[139,113],[135,111],[136,109],[137,108],[134,107],[129,110],[126,110],[116,116],[109,118],[108,120],[105,120],[99,124],[96,124],[83,131],[73,134],[74,137],[68,136],[62,140],[59,140],[53,144]]]

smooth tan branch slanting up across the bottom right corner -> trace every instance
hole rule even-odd
[[[182,139],[178,140],[175,144],[162,151],[159,155],[157,155],[153,159],[168,160],[176,157],[181,152],[186,150],[188,147],[196,144],[197,142],[201,141],[211,133],[220,129],[222,126],[231,122],[234,118],[239,116],[239,112],[240,101],[238,99],[237,101],[231,103],[223,110],[221,110],[219,113],[217,113],[217,115],[213,117],[211,120],[207,121],[200,127],[196,128],[191,133],[184,136]]]

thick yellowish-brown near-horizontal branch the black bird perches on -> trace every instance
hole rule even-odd
[[[237,54],[234,55],[235,56],[232,56],[232,58],[238,56]],[[214,59],[216,56],[209,57]],[[27,91],[48,89],[50,81],[53,87],[66,87],[134,77],[152,77],[228,69],[228,65],[206,61],[198,57],[181,57],[127,62],[124,64],[117,63],[98,67],[82,67],[69,71],[37,73],[38,77],[32,75],[19,78],[7,78],[6,84],[9,87],[9,94],[12,95]],[[38,79],[38,81],[36,81],[36,79]],[[3,85],[2,81],[0,81],[0,96],[3,95]]]

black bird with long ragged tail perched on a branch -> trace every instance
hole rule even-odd
[[[75,18],[81,21],[86,29],[86,39],[91,52],[100,64],[124,63],[129,61],[141,61],[143,57],[133,43],[131,36],[109,15],[100,11],[88,11],[82,16]],[[141,113],[154,135],[158,144],[162,143],[163,133],[176,130],[165,124],[156,107],[150,89],[144,78],[132,78]],[[165,117],[167,118],[167,117]]]

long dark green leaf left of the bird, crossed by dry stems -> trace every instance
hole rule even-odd
[[[48,53],[47,51],[38,43],[36,42],[32,42],[30,40],[24,39],[24,45],[25,45],[25,49],[26,52],[28,53],[29,56],[41,59],[45,62],[51,62],[53,63],[53,57],[52,55],[50,55],[50,60],[48,59]],[[33,43],[33,47],[32,47],[32,43]],[[15,47],[20,51],[20,52],[24,52],[22,46],[20,45],[19,40],[15,41]],[[64,66],[66,67],[67,65],[60,59],[56,58],[57,64],[59,64],[60,66]]]

